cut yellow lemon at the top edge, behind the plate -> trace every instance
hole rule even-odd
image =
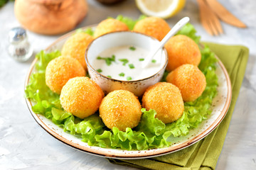
[[[137,7],[146,16],[170,18],[186,4],[186,0],[136,0]]]

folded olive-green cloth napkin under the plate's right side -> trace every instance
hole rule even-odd
[[[112,164],[138,169],[215,169],[245,74],[249,50],[241,45],[203,44],[208,45],[223,62],[232,84],[230,108],[222,123],[203,140],[178,152],[149,159],[109,159]]]

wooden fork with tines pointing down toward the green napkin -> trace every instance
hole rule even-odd
[[[223,33],[223,28],[216,14],[211,11],[210,7],[204,0],[197,0],[200,11],[200,18],[203,27],[210,35],[220,35]]]

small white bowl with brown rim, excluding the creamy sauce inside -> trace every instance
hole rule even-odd
[[[131,91],[136,96],[142,96],[146,88],[159,82],[164,75],[164,70],[168,63],[168,55],[164,47],[161,49],[161,57],[164,58],[164,60],[163,63],[161,63],[160,69],[152,74],[150,77],[144,77],[144,79],[138,79],[133,81],[112,79],[97,72],[96,68],[92,67],[92,62],[96,60],[100,52],[107,50],[111,47],[134,45],[136,47],[142,47],[145,50],[150,51],[154,49],[154,47],[156,47],[158,43],[159,40],[156,40],[156,38],[152,38],[148,35],[131,31],[118,31],[114,33],[107,33],[100,36],[99,38],[96,38],[90,43],[90,45],[88,45],[85,52],[85,61],[87,64],[90,78],[102,88],[105,94],[108,94],[114,90],[122,89]]]

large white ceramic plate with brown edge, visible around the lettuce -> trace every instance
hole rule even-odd
[[[90,26],[91,28],[95,28],[95,26]],[[74,33],[68,33],[66,35],[61,36],[50,45],[46,52],[51,52],[53,50],[61,50],[65,40],[67,40],[70,35]],[[28,72],[25,86],[27,86],[29,77],[31,73],[34,71],[34,65],[37,60],[34,60],[31,64],[31,69]],[[27,98],[26,103],[28,105],[29,111],[33,118],[35,118],[36,122],[41,125],[41,127],[46,130],[50,135],[60,140],[60,142],[69,145],[75,149],[79,149],[82,152],[86,152],[89,154],[94,154],[100,157],[109,157],[116,159],[141,159],[148,157],[157,157],[164,154],[169,154],[171,152],[176,152],[185,147],[191,146],[194,143],[202,140],[203,137],[206,137],[210,132],[212,132],[223,120],[225,114],[228,112],[228,108],[230,106],[231,101],[231,84],[230,78],[228,77],[228,72],[223,66],[222,62],[218,62],[216,74],[218,75],[218,95],[213,99],[212,109],[213,112],[209,115],[207,120],[204,120],[198,128],[190,130],[189,134],[185,137],[176,137],[171,139],[174,142],[174,145],[166,148],[160,149],[149,149],[149,150],[141,150],[141,151],[127,151],[122,149],[105,149],[101,147],[91,147],[88,146],[87,143],[82,142],[80,138],[70,135],[63,131],[63,128],[55,125],[51,120],[48,120],[43,115],[38,115],[33,113],[31,101]]]

